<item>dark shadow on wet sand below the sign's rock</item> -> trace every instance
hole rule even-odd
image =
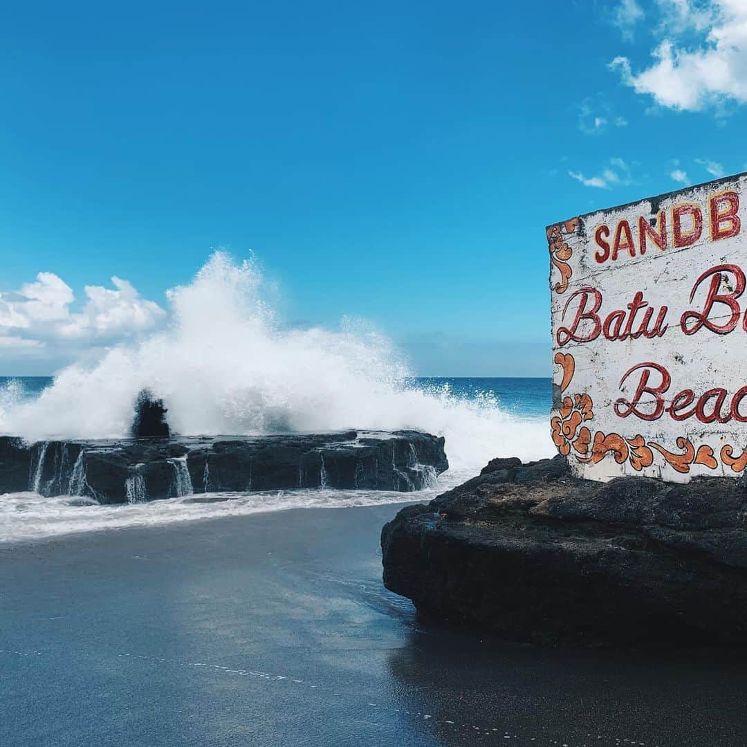
[[[420,622],[388,666],[444,746],[745,744],[739,652],[542,649]]]

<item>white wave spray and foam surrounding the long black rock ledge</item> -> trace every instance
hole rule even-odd
[[[121,438],[137,393],[149,388],[164,400],[172,430],[185,436],[349,429],[444,436],[451,469],[438,489],[409,495],[300,490],[131,506],[3,495],[0,542],[295,507],[430,500],[495,456],[551,456],[544,418],[503,412],[490,395],[460,397],[448,385],[414,385],[394,344],[361,321],[344,320],[339,329],[288,328],[263,290],[255,264],[216,252],[190,285],[169,292],[167,329],[108,351],[93,367],[66,368],[34,399],[24,397],[17,382],[0,388],[0,433],[27,441]]]

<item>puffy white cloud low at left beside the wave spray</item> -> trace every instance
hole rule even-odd
[[[80,311],[73,310],[72,288],[55,273],[0,293],[0,348],[37,355],[71,341],[78,347],[115,344],[164,320],[166,312],[129,282],[116,276],[111,282],[114,288],[87,285]]]

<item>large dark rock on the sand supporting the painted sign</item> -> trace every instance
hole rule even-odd
[[[425,616],[550,645],[747,642],[747,484],[570,477],[494,459],[382,530],[384,583]]]

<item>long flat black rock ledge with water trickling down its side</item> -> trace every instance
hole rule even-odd
[[[411,492],[447,468],[444,439],[414,431],[31,445],[0,437],[0,493],[99,503],[320,487]]]

